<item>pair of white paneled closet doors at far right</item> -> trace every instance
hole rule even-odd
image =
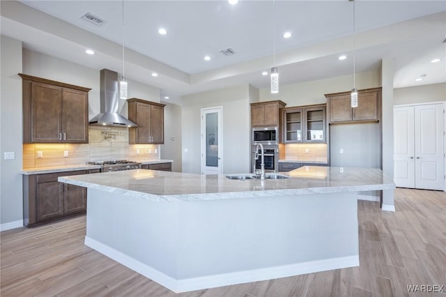
[[[397,187],[444,190],[444,104],[394,107]]]

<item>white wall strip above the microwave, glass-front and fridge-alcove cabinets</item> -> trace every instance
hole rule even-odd
[[[378,71],[356,74],[357,89],[380,86]],[[270,89],[260,90],[260,101],[282,100],[286,107],[323,104],[327,102],[324,94],[349,91],[353,88],[353,75],[319,79],[312,82],[279,86],[279,93],[272,94]]]

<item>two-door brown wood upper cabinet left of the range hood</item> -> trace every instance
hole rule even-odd
[[[82,86],[22,77],[24,143],[88,143],[89,91]]]

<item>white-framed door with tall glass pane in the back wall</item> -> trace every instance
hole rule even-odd
[[[201,109],[201,174],[222,174],[222,107]]]

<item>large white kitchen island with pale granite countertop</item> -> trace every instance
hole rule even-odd
[[[172,291],[358,266],[357,192],[392,191],[390,178],[339,167],[284,175],[135,169],[59,181],[88,188],[86,245]]]

